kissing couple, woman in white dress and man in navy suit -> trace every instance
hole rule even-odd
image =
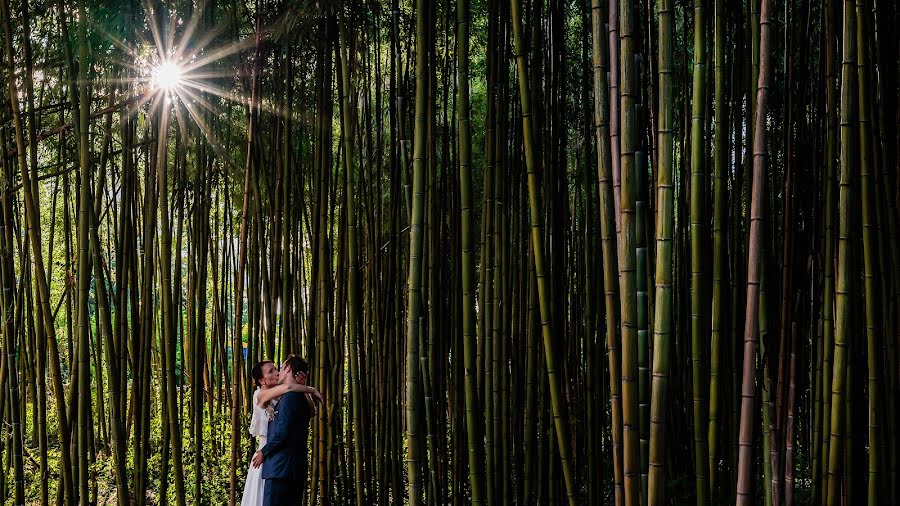
[[[291,355],[281,370],[265,361],[250,372],[256,383],[250,434],[258,439],[241,506],[300,504],[307,476],[307,433],[322,394],[306,385],[309,364]]]

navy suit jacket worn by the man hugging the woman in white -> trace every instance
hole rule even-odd
[[[312,410],[303,394],[288,392],[278,401],[275,419],[269,422],[263,454],[263,479],[306,480],[307,435]]]

